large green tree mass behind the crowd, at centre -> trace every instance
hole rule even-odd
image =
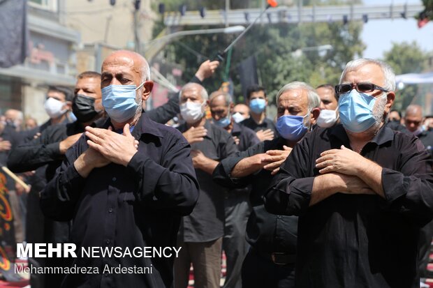
[[[328,0],[321,1],[321,3],[329,3],[330,1],[343,2]],[[237,1],[232,0],[231,2],[233,5]],[[253,3],[254,1],[251,0],[250,2]],[[161,24],[155,26],[155,33],[163,27]],[[216,27],[187,27],[191,30],[209,28]],[[235,98],[241,99],[237,66],[251,55],[256,56],[259,81],[266,87],[270,100],[273,100],[277,91],[284,84],[293,81],[304,81],[311,86],[324,83],[337,84],[346,63],[362,56],[362,52],[365,50],[365,45],[360,40],[361,31],[362,22],[350,22],[347,25],[343,25],[341,21],[256,24],[233,47],[229,77],[233,79],[235,85]],[[155,33],[154,35],[156,35]],[[223,33],[186,36],[167,45],[163,53],[167,61],[173,61],[184,66],[183,80],[186,82],[194,75],[200,63],[207,58],[215,59],[217,52],[224,50],[236,36]],[[310,49],[302,53],[294,53],[306,47],[320,45],[332,45],[332,50],[318,52]],[[205,57],[198,56],[199,54]],[[224,80],[225,66],[226,61],[221,63],[216,75],[205,82],[208,91],[219,88]]]

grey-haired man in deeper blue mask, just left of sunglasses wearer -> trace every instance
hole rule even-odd
[[[263,195],[279,165],[316,123],[320,103],[308,84],[286,84],[277,93],[280,136],[221,161],[214,171],[214,180],[221,185],[252,185],[253,210],[247,222],[251,249],[242,265],[242,287],[294,287],[298,217],[268,213]]]

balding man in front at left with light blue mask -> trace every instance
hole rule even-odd
[[[167,257],[105,255],[73,258],[96,273],[66,275],[62,287],[171,287],[182,215],[198,198],[189,144],[175,129],[142,113],[153,82],[135,52],[117,51],[102,66],[103,128],[87,126],[41,193],[43,213],[73,220],[71,242],[81,248],[169,248]],[[122,254],[122,253],[121,253]],[[112,268],[152,273],[112,273]],[[94,270],[95,271],[95,270]]]

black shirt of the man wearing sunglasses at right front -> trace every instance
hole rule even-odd
[[[416,137],[381,128],[361,155],[381,167],[385,199],[337,193],[309,206],[315,161],[350,147],[342,125],[298,143],[265,196],[272,213],[300,215],[297,287],[419,287],[418,232],[433,218],[432,160]]]

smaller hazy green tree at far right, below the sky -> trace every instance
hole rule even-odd
[[[427,53],[423,52],[415,41],[392,43],[390,51],[383,55],[384,61],[390,64],[396,75],[423,72],[428,59]],[[406,85],[404,89],[398,90],[394,103],[395,109],[405,109],[411,104],[417,93],[418,86],[416,85]]]

